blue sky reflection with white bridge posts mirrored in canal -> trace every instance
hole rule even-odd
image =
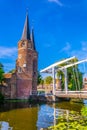
[[[66,115],[66,120],[69,118],[69,110],[55,108],[52,106],[42,105],[39,107],[37,127],[38,130],[45,130],[49,126],[54,126],[58,123],[58,116]]]

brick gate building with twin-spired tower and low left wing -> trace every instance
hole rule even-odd
[[[34,31],[29,30],[28,15],[21,40],[18,42],[18,58],[13,74],[5,74],[5,84],[1,91],[6,98],[28,99],[37,92],[38,53],[35,48]]]

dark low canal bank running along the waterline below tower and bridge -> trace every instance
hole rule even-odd
[[[83,99],[70,99],[70,98],[58,98],[55,97],[55,101],[53,100],[53,96],[43,96],[43,95],[32,95],[29,99],[4,99],[1,100],[1,103],[4,102],[29,102],[29,103],[57,103],[62,101],[70,101],[75,103],[83,103]]]

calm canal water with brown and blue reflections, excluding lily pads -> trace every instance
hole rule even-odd
[[[87,104],[87,102],[85,102]],[[47,130],[58,123],[59,115],[79,112],[84,104],[59,102],[31,105],[27,102],[0,105],[0,130]]]

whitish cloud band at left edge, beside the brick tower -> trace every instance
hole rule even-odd
[[[0,58],[14,57],[16,54],[17,54],[16,47],[8,48],[0,46]]]

